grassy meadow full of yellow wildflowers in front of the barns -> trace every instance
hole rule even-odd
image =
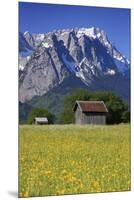
[[[130,190],[130,125],[22,125],[19,196]]]

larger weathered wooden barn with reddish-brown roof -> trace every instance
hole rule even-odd
[[[106,124],[108,112],[103,101],[76,101],[75,124]]]

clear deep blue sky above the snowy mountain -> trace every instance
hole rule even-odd
[[[74,27],[103,29],[130,59],[130,10],[41,3],[19,3],[19,31],[46,33]]]

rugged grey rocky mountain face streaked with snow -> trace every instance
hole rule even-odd
[[[20,33],[19,53],[21,102],[46,94],[70,76],[89,89],[114,90],[112,80],[121,80],[119,95],[129,93],[130,63],[99,28]]]

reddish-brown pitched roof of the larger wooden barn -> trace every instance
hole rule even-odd
[[[76,110],[77,106],[82,112],[108,112],[103,101],[76,101],[73,111]]]

